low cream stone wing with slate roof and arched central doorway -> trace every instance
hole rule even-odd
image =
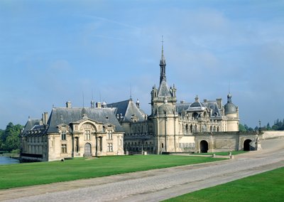
[[[100,106],[100,105],[98,105]],[[21,133],[22,161],[124,154],[124,131],[107,107],[53,107],[49,119],[28,119]]]

